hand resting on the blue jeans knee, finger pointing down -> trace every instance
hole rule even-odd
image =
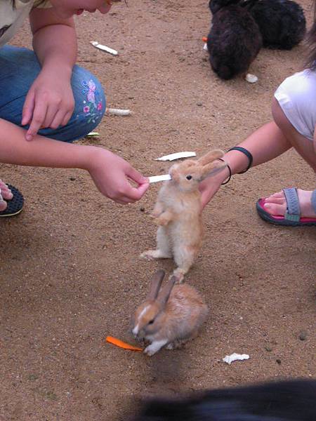
[[[29,124],[25,138],[32,140],[40,128],[65,126],[74,111],[70,81],[42,71],[32,84],[22,111],[22,126]]]

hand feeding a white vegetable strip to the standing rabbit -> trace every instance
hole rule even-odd
[[[149,181],[128,162],[99,147],[92,158],[88,171],[102,194],[123,205],[143,197]],[[132,187],[128,179],[136,182],[138,187]]]

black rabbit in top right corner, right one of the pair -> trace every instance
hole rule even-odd
[[[244,0],[240,5],[256,20],[265,47],[291,50],[305,36],[305,15],[295,1]]]

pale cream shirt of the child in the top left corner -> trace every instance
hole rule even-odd
[[[0,47],[18,32],[33,7],[50,6],[48,1],[39,4],[39,0],[0,0]]]

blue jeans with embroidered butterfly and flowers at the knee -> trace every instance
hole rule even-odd
[[[0,48],[0,119],[21,126],[22,107],[29,88],[37,78],[41,65],[27,48]],[[44,128],[38,133],[51,139],[72,142],[93,131],[105,113],[106,99],[98,79],[90,72],[74,66],[72,71],[74,112],[66,126]]]

